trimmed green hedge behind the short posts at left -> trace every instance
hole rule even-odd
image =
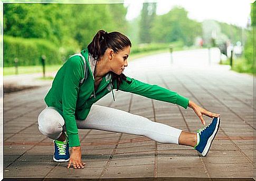
[[[4,67],[14,66],[15,58],[19,66],[41,65],[42,55],[46,64],[62,63],[59,49],[49,41],[4,36]]]

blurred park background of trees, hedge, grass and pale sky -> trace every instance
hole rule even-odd
[[[4,4],[4,75],[54,72],[70,55],[87,47],[99,29],[119,31],[131,39],[130,61],[156,53],[213,48],[218,64],[253,73],[255,3],[48,2]]]

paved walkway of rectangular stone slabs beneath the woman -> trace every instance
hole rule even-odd
[[[199,56],[200,52],[196,54]],[[196,60],[196,54],[188,61]],[[37,116],[45,107],[43,97],[51,85],[48,82],[40,88],[4,96],[4,177],[252,177],[252,76],[216,64],[175,64],[181,57],[176,55],[174,64],[170,64],[169,54],[137,59],[129,63],[125,74],[169,88],[221,114],[220,130],[206,157],[198,156],[188,146],[88,129],[79,130],[86,168],[67,169],[67,163],[53,162],[52,140],[37,129]],[[182,59],[189,55],[191,51],[184,52]],[[115,94],[115,102],[109,94],[97,104],[190,132],[202,127],[190,108],[121,91]],[[211,122],[211,118],[205,120],[206,124]]]

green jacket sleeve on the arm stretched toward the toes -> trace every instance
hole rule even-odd
[[[127,77],[127,80],[131,81],[131,83],[129,84],[126,81],[123,81],[119,86],[120,90],[145,96],[151,99],[162,100],[164,102],[177,104],[179,106],[184,107],[185,109],[188,106],[188,98],[183,97],[169,89],[160,87],[158,85],[143,83],[130,77]],[[114,88],[116,88],[115,82]]]

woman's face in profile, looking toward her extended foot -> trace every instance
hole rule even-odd
[[[127,59],[130,54],[131,47],[128,46],[124,50],[120,50],[117,53],[110,52],[110,71],[116,73],[117,75],[124,72],[125,67],[127,67]]]

